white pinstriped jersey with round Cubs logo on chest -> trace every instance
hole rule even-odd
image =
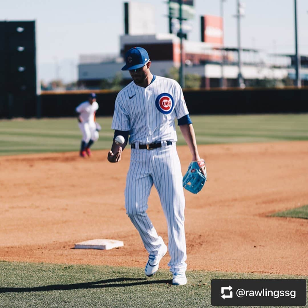
[[[180,85],[153,75],[148,87],[132,81],[118,93],[111,128],[129,131],[129,144],[177,141],[175,118],[188,113]]]

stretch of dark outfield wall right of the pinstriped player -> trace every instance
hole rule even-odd
[[[185,91],[192,114],[308,112],[308,87]]]

